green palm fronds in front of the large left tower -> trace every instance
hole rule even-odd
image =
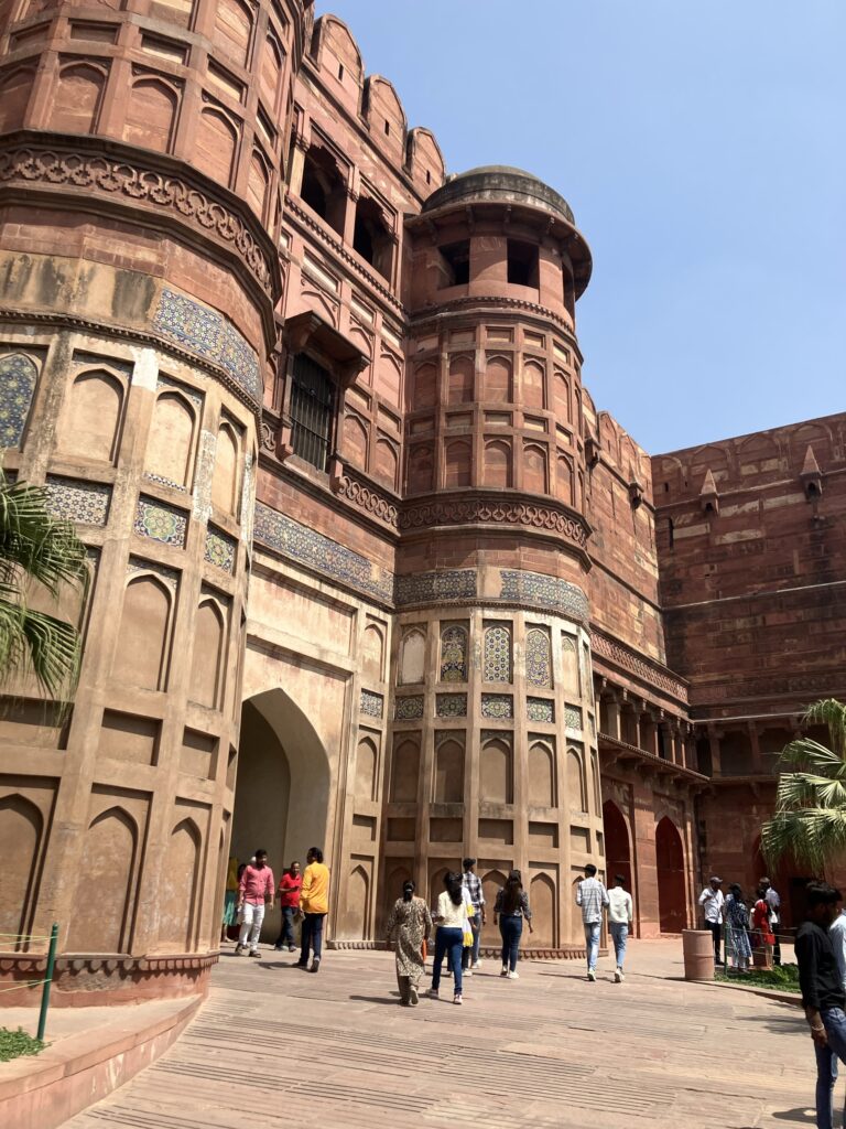
[[[69,522],[51,515],[45,487],[12,482],[0,469],[0,686],[34,674],[54,701],[72,695],[79,632],[27,602],[33,587],[58,599],[68,584],[87,588],[86,546]]]

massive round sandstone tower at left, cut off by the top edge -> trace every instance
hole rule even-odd
[[[25,684],[0,718],[0,980],[38,979],[12,935],[58,921],[55,1003],[196,991],[215,959],[309,19],[0,3],[0,447],[90,549],[72,712]]]

